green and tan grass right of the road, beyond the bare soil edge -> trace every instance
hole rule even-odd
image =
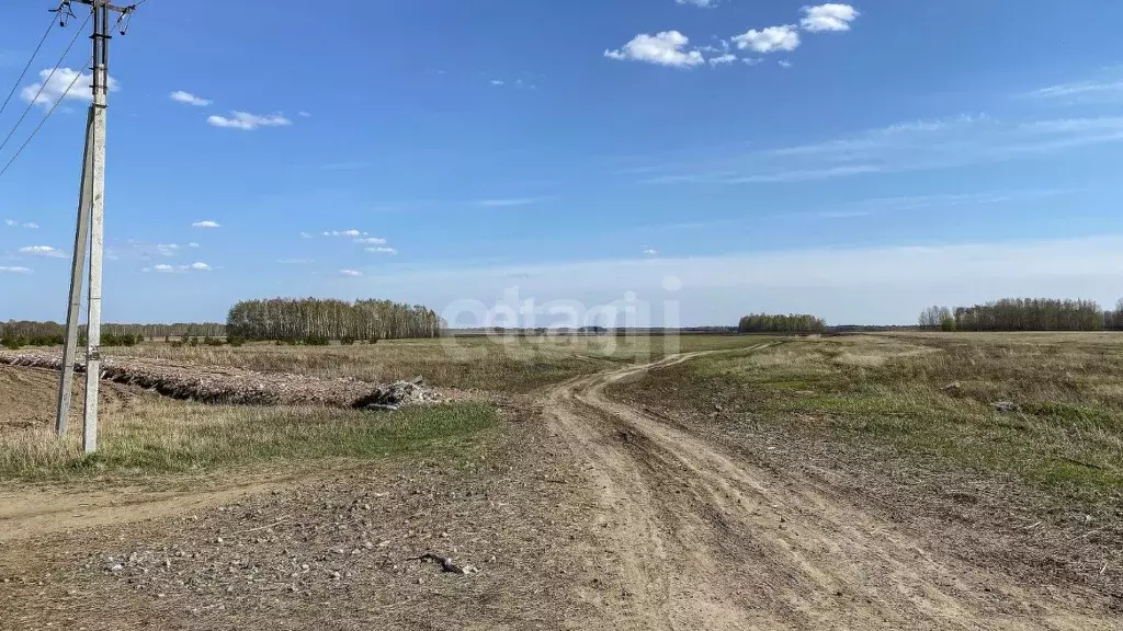
[[[1123,336],[789,340],[660,371],[677,405],[924,466],[1112,501],[1123,487]],[[673,384],[673,385],[672,385]],[[641,387],[637,384],[637,387]],[[668,387],[669,386],[669,390]],[[993,403],[1019,409],[998,412]]]

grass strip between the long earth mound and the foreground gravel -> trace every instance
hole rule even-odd
[[[438,445],[455,451],[497,420],[495,409],[480,402],[372,413],[157,401],[143,412],[108,419],[99,450],[90,456],[80,452],[73,435],[63,440],[46,431],[0,436],[0,479],[141,477],[330,458],[362,460]]]

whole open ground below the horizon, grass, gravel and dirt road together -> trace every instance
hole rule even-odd
[[[1116,335],[109,354],[421,375],[448,401],[107,383],[86,457],[52,435],[56,374],[0,366],[0,628],[1083,630],[1123,607]]]

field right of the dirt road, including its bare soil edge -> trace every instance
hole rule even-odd
[[[1123,595],[1119,333],[789,339],[612,392],[957,554]]]

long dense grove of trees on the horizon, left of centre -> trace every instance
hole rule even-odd
[[[229,336],[248,340],[433,338],[441,328],[431,309],[389,300],[245,300],[230,308],[226,319]]]

